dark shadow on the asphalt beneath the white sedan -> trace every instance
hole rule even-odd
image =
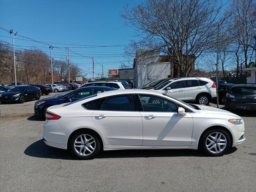
[[[40,150],[38,150],[40,149]],[[236,147],[231,148],[227,154],[234,153]],[[24,154],[38,158],[63,159],[63,160],[79,160],[72,156],[70,152],[64,149],[58,149],[44,144],[43,139],[32,143],[26,148]],[[101,151],[95,159],[108,158],[149,158],[149,157],[208,157],[199,150],[192,149],[158,149],[158,150],[113,150]]]

